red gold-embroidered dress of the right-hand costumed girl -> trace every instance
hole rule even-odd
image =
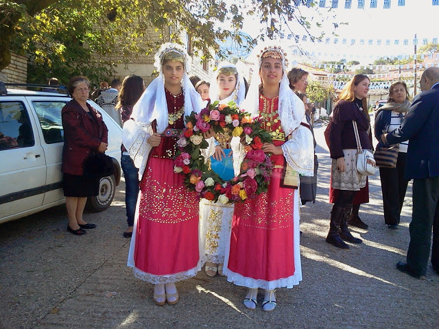
[[[259,98],[259,114],[273,144],[285,143],[278,116],[278,97]],[[267,193],[235,204],[225,271],[244,287],[291,288],[302,280],[299,253],[298,190],[281,187],[284,156],[273,155],[274,171]],[[227,257],[227,256],[226,256]]]

